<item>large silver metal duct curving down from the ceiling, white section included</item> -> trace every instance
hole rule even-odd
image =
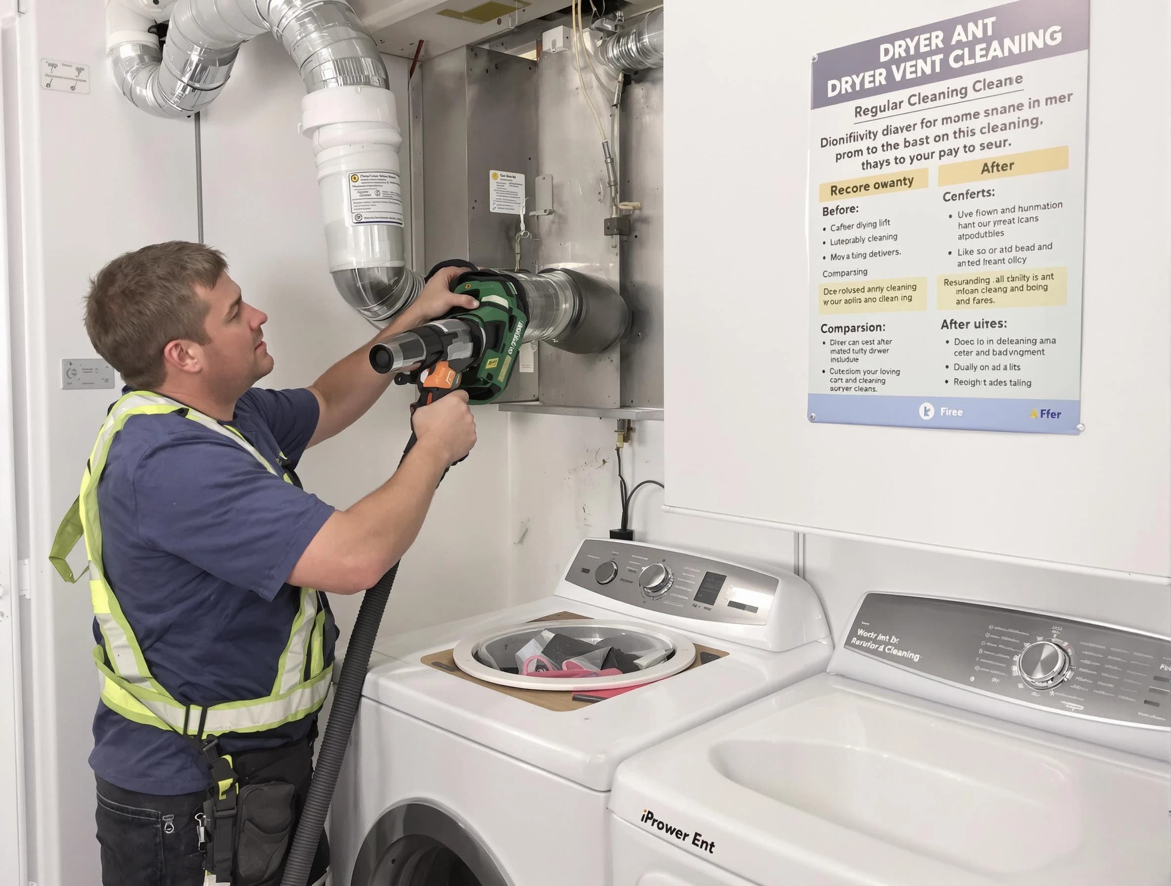
[[[150,28],[167,15],[160,51]],[[122,94],[162,117],[206,108],[240,44],[272,32],[307,92],[300,129],[316,156],[334,283],[376,325],[415,301],[423,277],[406,267],[395,96],[374,39],[345,0],[107,0],[105,29]]]

